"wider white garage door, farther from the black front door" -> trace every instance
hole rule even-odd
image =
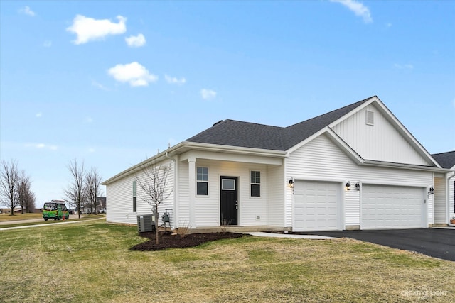
[[[363,185],[362,229],[425,227],[424,189]]]

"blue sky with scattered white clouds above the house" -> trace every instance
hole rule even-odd
[[[378,95],[455,150],[455,1],[0,1],[0,158],[37,206],[222,119],[289,126]]]

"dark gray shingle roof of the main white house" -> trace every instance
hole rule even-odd
[[[186,139],[188,142],[268,150],[288,150],[373,97],[288,127],[224,120]]]

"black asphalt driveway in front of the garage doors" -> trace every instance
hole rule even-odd
[[[387,229],[378,231],[321,231],[311,234],[354,238],[455,261],[455,228]]]

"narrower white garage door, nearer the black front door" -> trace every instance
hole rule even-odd
[[[340,229],[338,227],[340,184],[296,181],[294,189],[294,231]]]

